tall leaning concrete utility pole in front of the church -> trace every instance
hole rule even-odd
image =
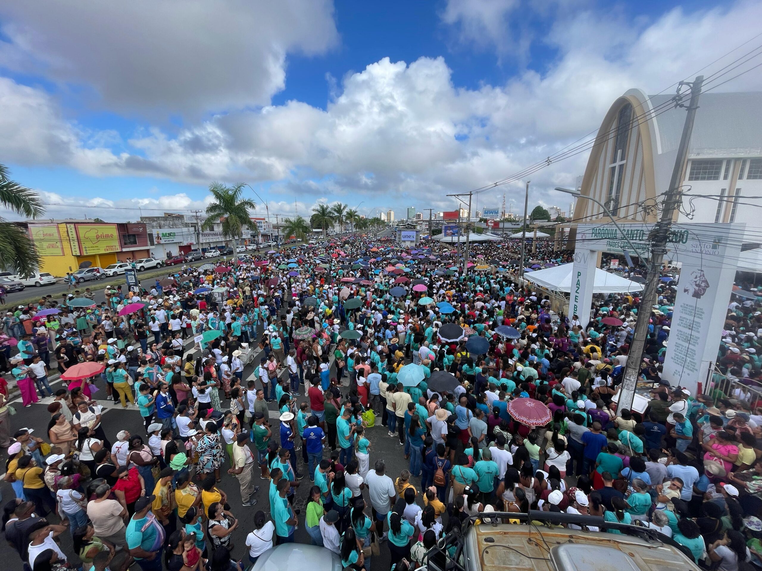
[[[693,132],[693,121],[696,119],[696,110],[699,108],[699,95],[701,94],[703,81],[704,76],[699,75],[692,83],[690,81],[680,81],[677,84],[678,94],[680,93],[680,86],[690,85],[690,103],[687,107],[683,134],[680,136],[680,146],[677,147],[677,156],[674,159],[674,167],[672,167],[669,188],[664,194],[661,219],[656,223],[649,236],[649,241],[652,243],[651,268],[648,270],[648,277],[645,280],[645,287],[640,301],[638,321],[635,324],[635,333],[632,336],[632,344],[628,352],[617,411],[623,409],[632,410],[632,401],[635,399],[635,389],[640,373],[640,364],[643,359],[643,349],[645,349],[645,340],[648,338],[648,323],[651,318],[652,306],[656,301],[656,288],[661,278],[661,263],[664,260],[664,254],[667,253],[667,243],[674,211],[682,202],[680,182],[683,178],[683,168],[688,154],[690,134]],[[680,96],[678,95],[676,104],[679,104],[679,101]]]

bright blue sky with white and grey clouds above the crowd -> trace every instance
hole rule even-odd
[[[447,193],[552,154],[627,89],[658,91],[754,36],[760,16],[653,0],[3,5],[0,161],[56,217],[203,208],[213,180],[251,183],[284,215],[452,209]],[[585,159],[535,174],[530,202],[567,209],[552,188]]]

